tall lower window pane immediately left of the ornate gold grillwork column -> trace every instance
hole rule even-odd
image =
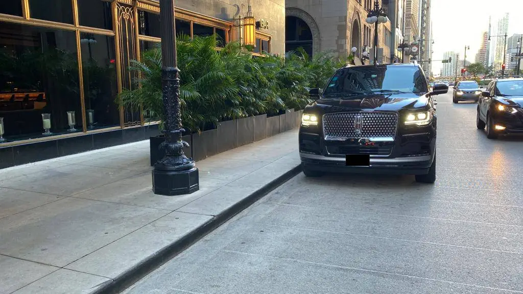
[[[80,43],[87,130],[119,126],[115,38],[82,33]]]

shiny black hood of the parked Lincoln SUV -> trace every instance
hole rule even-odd
[[[323,108],[325,112],[334,111],[359,111],[359,110],[382,110],[399,111],[402,109],[424,108],[428,97],[424,94],[362,94],[362,95],[339,95],[327,96],[318,99],[310,105],[311,107]]]

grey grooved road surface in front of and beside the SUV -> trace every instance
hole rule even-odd
[[[523,293],[523,139],[475,107],[438,96],[434,185],[300,174],[126,293]]]

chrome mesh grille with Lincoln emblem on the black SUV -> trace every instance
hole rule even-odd
[[[362,125],[359,125],[359,116]],[[339,112],[323,116],[325,139],[396,137],[397,114],[393,112]],[[359,131],[358,131],[359,129]]]

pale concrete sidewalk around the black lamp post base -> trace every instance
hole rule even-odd
[[[197,162],[200,190],[152,193],[149,141],[0,170],[0,293],[127,285],[300,169],[298,130]]]

